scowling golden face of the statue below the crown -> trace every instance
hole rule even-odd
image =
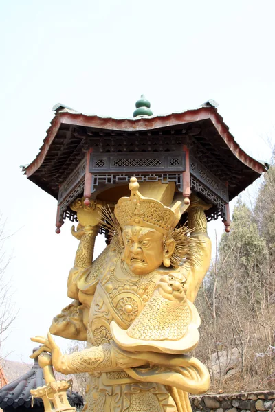
[[[146,275],[161,266],[163,238],[162,233],[155,229],[124,227],[124,261],[135,275]]]

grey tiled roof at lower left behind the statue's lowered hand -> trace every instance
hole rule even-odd
[[[30,393],[31,389],[43,387],[43,385],[45,385],[43,369],[39,366],[38,359],[35,359],[30,371],[0,389],[0,408],[9,412],[14,412],[14,409],[21,412],[27,412],[28,410],[43,412],[42,399],[34,398],[32,401]],[[79,393],[67,391],[67,398],[72,407],[83,406],[83,397]]]

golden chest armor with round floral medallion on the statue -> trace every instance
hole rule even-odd
[[[110,323],[128,329],[155,290],[155,273],[133,275],[116,253],[100,275],[89,312],[88,341],[94,346],[111,341]]]

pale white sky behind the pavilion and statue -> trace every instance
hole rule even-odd
[[[0,0],[0,210],[19,309],[2,352],[28,362],[30,336],[69,304],[77,241],[69,222],[56,235],[56,201],[19,168],[39,152],[52,106],[131,117],[142,93],[154,114],[213,98],[241,148],[269,161],[274,16],[273,0]]]

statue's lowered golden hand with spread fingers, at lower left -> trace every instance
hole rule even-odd
[[[30,355],[30,358],[34,359],[34,358],[39,357],[39,364],[40,364],[40,355],[42,354],[42,352],[50,352],[50,354],[52,354],[51,356],[52,365],[54,366],[54,369],[59,371],[61,369],[63,354],[61,352],[60,347],[56,345],[50,332],[47,334],[47,338],[45,338],[45,336],[35,336],[34,338],[31,338],[31,340],[33,342],[41,343],[42,346],[39,347],[39,349],[36,350],[32,355]],[[41,362],[43,363],[42,358],[41,358]],[[48,357],[45,358],[45,362],[46,363],[48,362]],[[50,363],[48,363],[48,365],[50,365]]]

